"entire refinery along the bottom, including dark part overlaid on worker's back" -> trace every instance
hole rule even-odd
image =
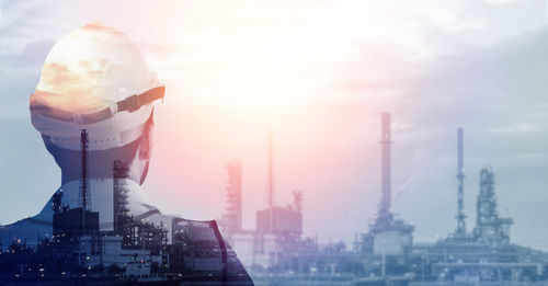
[[[511,242],[511,218],[501,217],[492,168],[479,171],[476,224],[466,225],[464,129],[457,129],[456,227],[424,243],[414,226],[393,213],[392,133],[389,113],[380,116],[380,192],[370,224],[352,245],[321,244],[304,233],[302,191],[276,203],[274,134],[269,133],[266,205],[255,226],[242,226],[242,161],[226,164],[226,209],[216,221],[169,217],[150,221],[134,216],[126,179],[129,165],[112,164],[112,227],[92,208],[88,176],[88,133],[81,130],[78,205],[52,199],[52,234],[0,244],[1,285],[548,285],[548,254]],[[472,195],[472,194],[468,194]],[[151,210],[158,211],[158,210]],[[438,214],[441,216],[450,214]],[[241,261],[241,264],[240,264]],[[208,284],[209,283],[209,284]]]

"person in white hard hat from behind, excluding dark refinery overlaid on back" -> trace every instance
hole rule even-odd
[[[113,230],[113,185],[117,184],[124,188],[125,215],[165,229],[169,243],[179,239],[209,245],[212,249],[202,249],[210,258],[204,273],[213,267],[224,273],[219,279],[237,277],[238,284],[252,284],[215,221],[164,215],[141,190],[152,150],[153,105],[163,96],[163,84],[138,46],[122,32],[90,23],[57,42],[31,95],[30,110],[34,127],[61,169],[61,186],[36,216],[0,227],[2,244],[20,240],[35,245],[39,238],[50,237],[56,206],[78,207],[82,184],[87,183],[89,207],[99,211],[101,231]],[[89,181],[81,179],[82,129],[88,134]],[[113,179],[115,162],[124,169],[118,179]],[[192,264],[185,261],[185,265]]]

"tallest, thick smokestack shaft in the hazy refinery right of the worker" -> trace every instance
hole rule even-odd
[[[390,113],[381,114],[380,127],[381,127],[380,145],[383,146],[381,150],[383,197],[380,201],[380,214],[385,215],[390,213],[390,204],[391,204],[390,145],[392,144],[392,140],[390,134]]]

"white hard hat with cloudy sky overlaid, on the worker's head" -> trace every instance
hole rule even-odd
[[[87,129],[89,149],[104,150],[139,138],[163,93],[139,47],[94,22],[52,48],[31,95],[31,117],[61,148],[80,149],[80,130]]]

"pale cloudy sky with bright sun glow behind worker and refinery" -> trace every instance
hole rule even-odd
[[[243,226],[304,192],[320,241],[367,231],[380,197],[380,113],[392,114],[393,211],[415,241],[456,228],[456,129],[465,209],[492,167],[513,242],[548,250],[547,1],[0,0],[0,224],[39,211],[60,171],[30,121],[54,44],[100,21],[126,33],[165,82],[144,184],[167,213],[219,218],[239,158]]]

